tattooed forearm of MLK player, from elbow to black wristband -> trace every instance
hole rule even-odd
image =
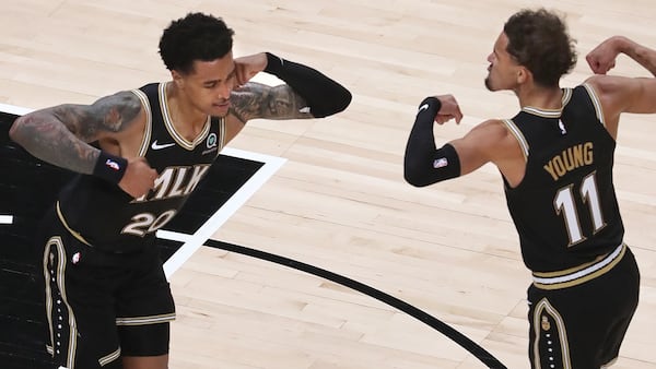
[[[47,112],[32,112],[12,124],[11,139],[35,157],[82,174],[93,172],[99,150],[78,139]]]

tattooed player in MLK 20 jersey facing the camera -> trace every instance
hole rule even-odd
[[[12,126],[34,156],[80,174],[44,223],[47,349],[57,365],[167,368],[175,309],[155,230],[246,121],[323,118],[350,104],[349,91],[312,68],[268,52],[233,59],[232,36],[221,19],[189,13],[160,39],[172,81]],[[261,71],[285,84],[248,82]]]

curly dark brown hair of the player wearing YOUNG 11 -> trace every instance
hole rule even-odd
[[[508,37],[506,51],[532,73],[539,85],[558,86],[561,76],[576,66],[576,41],[553,12],[522,10],[508,19],[503,32]]]

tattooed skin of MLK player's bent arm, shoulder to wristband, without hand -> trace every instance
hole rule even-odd
[[[130,92],[92,105],[59,105],[16,119],[10,134],[32,155],[78,172],[91,174],[99,150],[90,142],[113,136],[132,124],[141,102]]]

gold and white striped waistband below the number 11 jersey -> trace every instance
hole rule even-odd
[[[534,285],[540,289],[561,289],[577,286],[612,270],[626,253],[626,243],[618,246],[595,261],[557,272],[534,272]]]

